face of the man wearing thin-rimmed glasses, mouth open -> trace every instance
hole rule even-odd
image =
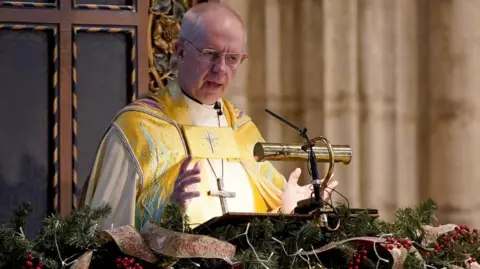
[[[180,86],[204,104],[213,104],[228,89],[245,59],[244,30],[233,19],[205,23],[192,40],[177,44]]]

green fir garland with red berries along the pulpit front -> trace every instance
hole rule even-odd
[[[372,219],[367,212],[350,217],[348,208],[343,205],[337,209],[343,219],[340,228],[334,232],[323,230],[311,221],[287,221],[280,216],[219,227],[212,230],[209,236],[237,247],[235,268],[391,268],[392,257],[386,249],[410,249],[412,246],[418,251],[417,256],[415,252],[410,252],[404,268],[423,269],[425,265],[436,268],[451,268],[452,265],[462,267],[466,260],[480,258],[478,231],[466,226],[459,226],[453,232],[440,235],[435,242],[422,245],[425,239],[423,226],[432,225],[437,209],[432,200],[426,200],[415,208],[397,210],[393,223]],[[14,212],[11,223],[0,227],[0,268],[68,267],[89,249],[95,250],[90,268],[158,268],[157,265],[122,254],[114,243],[104,241],[99,236],[97,223],[108,216],[111,211],[109,206],[95,209],[87,207],[66,217],[47,217],[38,237],[32,241],[24,236],[23,230],[30,211],[29,204],[22,205]],[[165,217],[158,225],[172,231],[182,231],[188,219],[182,219],[174,205],[167,206],[165,211]],[[195,233],[194,230],[184,232]],[[372,244],[357,241],[342,244],[308,259],[295,255],[300,249],[309,251],[353,237],[386,234],[387,242],[375,249]],[[379,261],[377,255],[389,262]],[[175,268],[232,267],[225,261],[211,259],[175,260],[162,257],[160,262],[174,262]]]

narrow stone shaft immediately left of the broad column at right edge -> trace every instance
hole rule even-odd
[[[417,0],[394,1],[395,70],[395,175],[390,188],[395,189],[397,207],[415,206],[419,202],[418,176],[418,92],[419,23]],[[425,19],[425,17],[423,17]]]

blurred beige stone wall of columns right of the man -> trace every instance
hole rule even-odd
[[[265,108],[352,147],[335,179],[354,207],[430,197],[440,222],[480,225],[480,1],[221,2],[248,29],[230,96],[268,142],[302,140]]]

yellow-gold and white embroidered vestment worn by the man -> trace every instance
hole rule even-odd
[[[251,118],[229,101],[220,102],[221,118],[213,107],[195,103],[170,83],[117,114],[101,141],[81,202],[112,206],[103,229],[160,221],[188,155],[194,157],[190,168],[202,161],[202,181],[196,185],[201,196],[191,200],[186,212],[193,225],[222,214],[220,199],[207,194],[218,190],[222,160],[225,189],[236,193],[226,198],[230,212],[278,210],[285,178],[271,163],[255,161],[253,146],[264,140]]]

